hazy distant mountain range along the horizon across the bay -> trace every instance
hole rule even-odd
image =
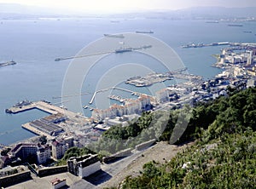
[[[0,3],[0,19],[22,19],[22,18],[37,18],[40,16],[109,16],[119,18],[162,18],[162,19],[219,19],[219,18],[241,18],[255,17],[256,7],[247,8],[224,8],[224,7],[195,7],[179,10],[150,10],[142,12],[134,12],[130,14],[86,14],[83,12],[70,12],[66,9],[46,9],[36,6],[26,6],[17,3]]]

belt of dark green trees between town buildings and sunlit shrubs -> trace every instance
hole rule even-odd
[[[151,139],[171,139],[171,143],[175,144],[196,139],[208,142],[219,135],[232,134],[247,127],[255,130],[254,117],[256,89],[236,91],[230,93],[230,97],[199,103],[194,108],[184,106],[175,111],[143,112],[142,117],[129,126],[116,125],[108,129],[90,149],[114,153]],[[177,135],[177,139],[172,138]]]

